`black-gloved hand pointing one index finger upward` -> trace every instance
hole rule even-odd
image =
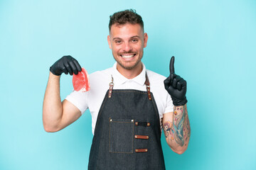
[[[170,76],[164,80],[164,87],[171,95],[174,106],[183,106],[186,100],[186,80],[174,73],[174,56],[170,61]]]

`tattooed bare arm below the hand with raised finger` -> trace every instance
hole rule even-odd
[[[169,147],[177,154],[183,154],[188,147],[191,135],[186,104],[184,106],[174,106],[174,112],[165,113],[163,126]]]

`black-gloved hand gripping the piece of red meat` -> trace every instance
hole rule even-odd
[[[55,76],[60,76],[63,72],[65,74],[69,73],[70,75],[73,75],[73,73],[78,74],[78,72],[81,71],[82,68],[80,67],[78,61],[70,55],[63,56],[50,67],[50,72],[52,72]]]

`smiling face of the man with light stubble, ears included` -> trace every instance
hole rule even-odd
[[[146,47],[147,34],[139,24],[114,24],[107,41],[112,50],[117,69],[136,69],[141,67],[143,49]]]

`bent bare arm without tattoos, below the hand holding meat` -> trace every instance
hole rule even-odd
[[[60,101],[60,76],[50,72],[43,99],[43,128],[57,132],[80,118],[81,112],[69,101]]]

